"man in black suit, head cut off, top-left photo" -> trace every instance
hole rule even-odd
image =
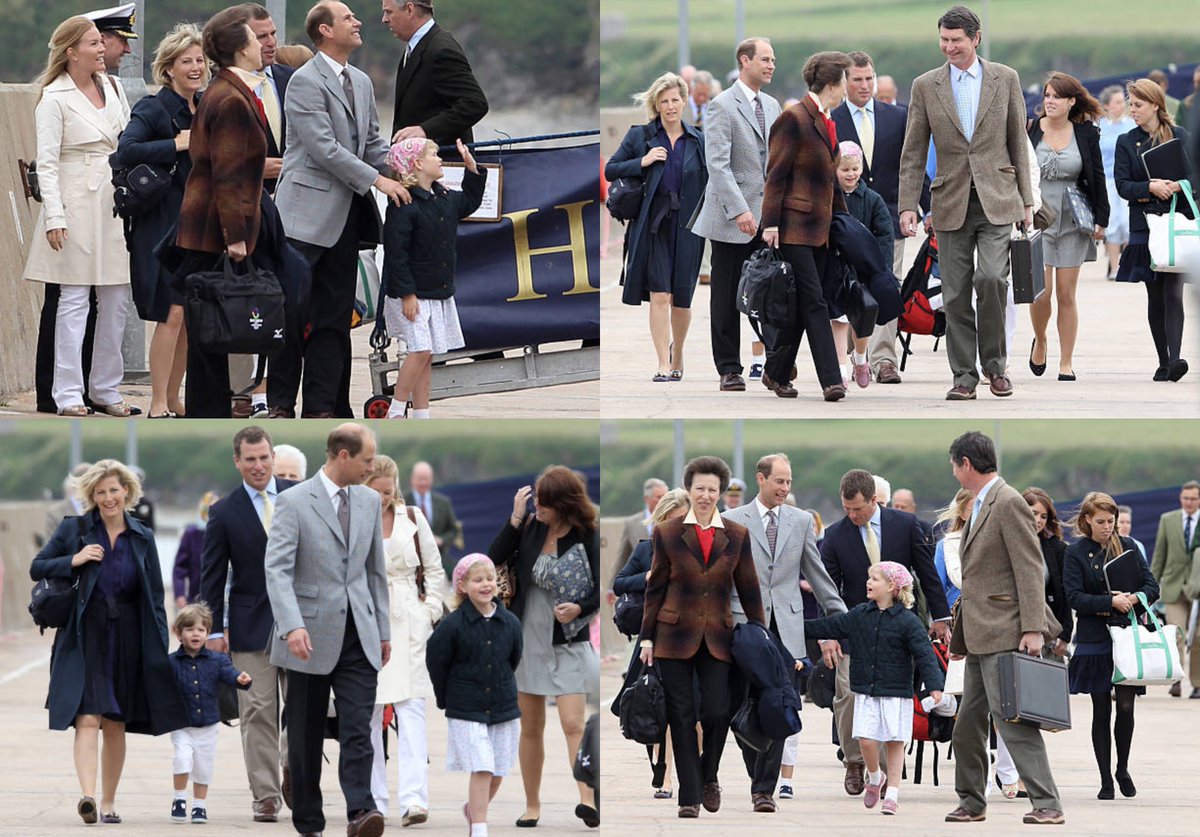
[[[426,137],[438,145],[473,143],[487,97],[454,35],[433,20],[430,0],[383,0],[383,22],[401,41],[392,143]]]

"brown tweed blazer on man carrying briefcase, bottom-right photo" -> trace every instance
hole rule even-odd
[[[1062,626],[1046,604],[1033,512],[1015,488],[997,478],[974,524],[962,530],[959,555],[962,595],[950,651],[1015,651],[1022,633],[1051,640],[1058,634]]]

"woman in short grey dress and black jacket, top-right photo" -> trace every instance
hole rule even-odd
[[[1109,223],[1109,195],[1100,156],[1100,132],[1094,120],[1102,114],[1100,103],[1066,73],[1051,73],[1042,90],[1040,119],[1030,124],[1030,141],[1038,155],[1042,174],[1042,203],[1058,211],[1058,217],[1042,234],[1046,290],[1030,306],[1033,345],[1030,347],[1030,371],[1042,375],[1046,369],[1051,300],[1058,302],[1058,380],[1075,380],[1075,337],[1079,333],[1079,308],[1075,287],[1079,269],[1096,261],[1096,242],[1104,241]],[[1093,223],[1081,229],[1072,209],[1068,192],[1078,191],[1091,209]]]

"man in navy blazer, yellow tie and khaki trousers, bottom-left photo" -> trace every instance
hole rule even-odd
[[[209,508],[200,556],[200,597],[212,608],[212,625],[218,628],[209,639],[209,649],[232,654],[234,666],[253,678],[250,690],[238,694],[241,747],[254,800],[254,821],[275,823],[281,797],[292,803],[287,787],[287,739],[280,735],[287,678],[282,668],[271,664],[264,650],[270,639],[271,607],[263,559],[275,500],[295,483],[275,478],[271,436],[260,427],[242,428],[233,438],[233,464],[241,475],[241,486]],[[229,627],[222,633],[230,567]]]

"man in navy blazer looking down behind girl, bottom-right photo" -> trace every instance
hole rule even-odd
[[[841,477],[839,495],[846,517],[826,529],[821,560],[846,608],[866,601],[866,573],[872,564],[895,561],[920,582],[935,620],[932,632],[942,642],[949,642],[950,609],[946,604],[946,590],[934,566],[934,547],[916,516],[876,502],[875,477],[862,469],[847,471]],[[834,668],[836,664],[838,668],[833,713],[845,754],[844,784],[846,793],[856,796],[863,793],[863,751],[852,734],[854,696],[850,691],[850,656],[853,649],[842,649],[836,640],[824,640],[821,654],[826,666]]]

